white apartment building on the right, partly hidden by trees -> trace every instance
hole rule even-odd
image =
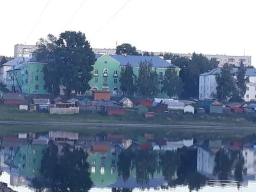
[[[232,68],[234,73],[237,72],[237,68]],[[205,72],[199,76],[199,100],[213,99],[213,95],[217,93],[217,86],[215,76],[220,74],[221,68],[214,68],[209,72]],[[256,100],[256,69],[247,68],[246,77],[249,77],[250,83],[247,85],[246,93],[244,94],[244,100],[250,102]],[[236,78],[236,76],[235,76]]]

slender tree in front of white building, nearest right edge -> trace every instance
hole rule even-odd
[[[244,94],[246,92],[246,85],[250,83],[249,77],[245,77],[246,74],[246,68],[244,67],[243,62],[241,61],[240,66],[237,68],[236,72],[236,84],[239,94],[239,99],[242,99],[244,97]]]

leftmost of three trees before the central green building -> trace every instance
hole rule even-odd
[[[131,65],[128,63],[125,67],[121,68],[121,73],[119,77],[119,81],[121,83],[121,90],[124,95],[127,97],[132,97],[136,92],[136,84],[134,83],[133,69]]]

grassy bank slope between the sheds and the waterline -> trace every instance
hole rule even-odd
[[[80,113],[76,115],[50,115],[19,111],[17,108],[0,106],[0,120],[48,121],[48,122],[98,122],[98,123],[132,123],[132,124],[180,124],[180,125],[220,125],[220,126],[255,126],[255,116],[241,115],[177,115],[158,114],[155,118],[127,113],[124,116],[107,116],[99,113]]]

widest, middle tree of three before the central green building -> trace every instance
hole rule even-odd
[[[159,92],[158,75],[156,68],[152,69],[152,61],[141,61],[137,79],[138,95],[141,97],[153,97]]]

